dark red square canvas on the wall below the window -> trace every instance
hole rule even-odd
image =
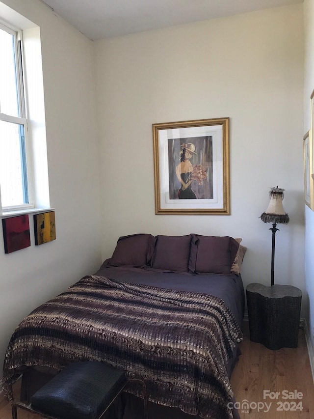
[[[28,215],[3,218],[2,227],[5,253],[11,253],[30,246]]]

